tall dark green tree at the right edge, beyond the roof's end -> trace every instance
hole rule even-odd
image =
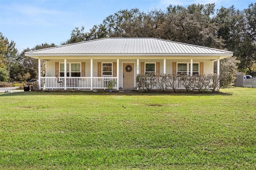
[[[256,61],[256,4],[240,11],[230,8],[217,10],[215,18],[219,25],[218,36],[224,40],[224,48],[234,51],[234,56],[240,61],[238,69],[252,75]]]

